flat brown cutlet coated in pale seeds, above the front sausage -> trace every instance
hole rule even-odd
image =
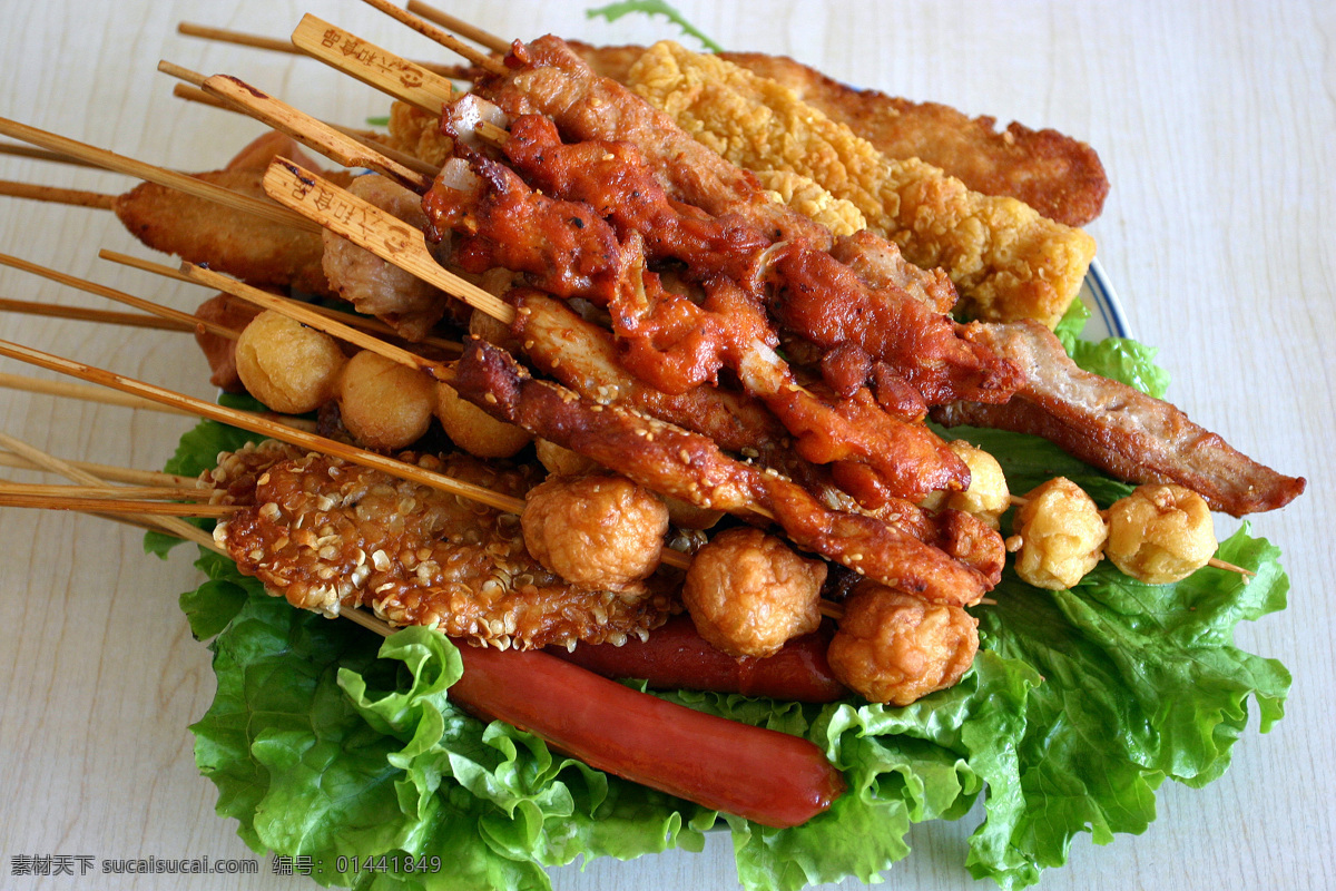
[[[270,593],[338,614],[366,605],[397,625],[440,628],[498,649],[623,643],[667,618],[669,586],[619,592],[570,585],[524,548],[520,518],[329,456],[290,448],[224,456],[211,474],[247,509],[214,538]],[[411,456],[406,456],[411,458]],[[532,477],[466,456],[415,462],[522,497]]]

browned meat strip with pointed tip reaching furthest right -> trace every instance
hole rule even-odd
[[[983,325],[971,337],[1021,362],[1026,383],[1005,405],[934,409],[941,423],[1041,435],[1120,480],[1177,482],[1234,517],[1281,508],[1307,485],[1241,454],[1173,405],[1082,371],[1038,323]]]

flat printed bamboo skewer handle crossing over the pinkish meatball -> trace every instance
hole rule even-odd
[[[426,250],[421,231],[299,164],[275,158],[265,174],[265,191],[285,207],[307,215],[331,232],[497,321],[506,325],[514,321],[514,307],[509,303],[442,269]]]

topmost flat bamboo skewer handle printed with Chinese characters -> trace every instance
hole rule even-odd
[[[293,31],[293,44],[309,56],[429,115],[440,115],[441,106],[454,95],[454,85],[445,77],[310,13],[302,16]]]

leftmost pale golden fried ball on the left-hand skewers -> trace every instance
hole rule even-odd
[[[334,398],[347,357],[325,331],[265,310],[236,338],[236,374],[274,411],[303,414]]]

